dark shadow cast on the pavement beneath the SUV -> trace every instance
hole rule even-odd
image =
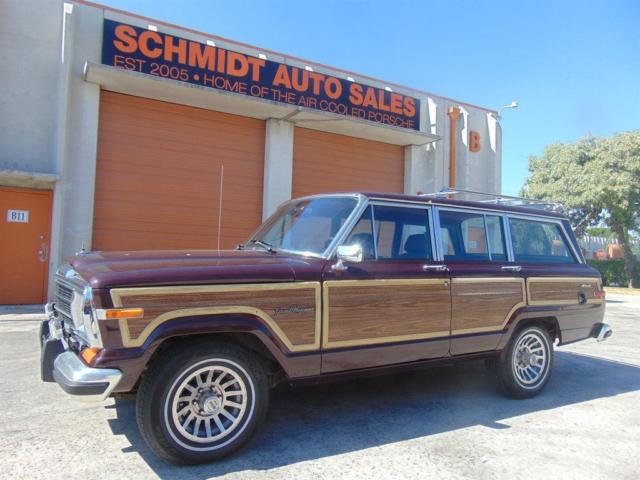
[[[146,446],[132,400],[118,400],[115,434],[162,478],[209,478],[348,453],[465,427],[508,429],[502,420],[640,389],[640,367],[556,352],[545,391],[529,400],[499,396],[482,362],[272,392],[267,420],[253,441],[225,461],[178,467]]]

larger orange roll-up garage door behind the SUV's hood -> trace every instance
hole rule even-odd
[[[93,249],[216,248],[221,201],[221,248],[245,240],[262,217],[264,132],[261,120],[101,92]]]

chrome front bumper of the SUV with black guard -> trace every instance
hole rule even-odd
[[[43,321],[40,327],[42,380],[55,381],[65,392],[82,400],[107,399],[122,379],[122,372],[86,365],[69,350],[51,305],[47,304],[45,311],[49,320]]]

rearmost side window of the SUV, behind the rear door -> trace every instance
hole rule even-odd
[[[557,223],[510,218],[509,225],[516,262],[576,263]]]

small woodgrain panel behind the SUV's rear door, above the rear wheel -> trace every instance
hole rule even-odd
[[[599,278],[530,277],[527,289],[530,305],[578,305],[579,295],[584,295],[586,303],[602,303],[596,296],[602,290]]]

